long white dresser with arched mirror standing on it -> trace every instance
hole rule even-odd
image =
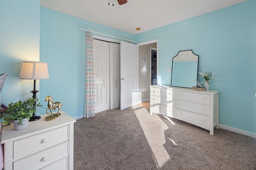
[[[150,114],[157,113],[197,125],[214,134],[218,128],[219,91],[150,86]]]

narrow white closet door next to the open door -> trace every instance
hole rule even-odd
[[[120,44],[110,43],[110,109],[120,107]]]

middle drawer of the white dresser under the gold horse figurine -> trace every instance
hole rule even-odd
[[[29,145],[29,144],[27,144]],[[36,170],[68,156],[68,141],[13,162],[13,170]]]

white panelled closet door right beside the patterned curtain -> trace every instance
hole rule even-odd
[[[93,40],[95,113],[110,108],[109,43]]]

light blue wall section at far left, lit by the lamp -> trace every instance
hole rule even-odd
[[[5,105],[32,97],[33,80],[19,76],[23,61],[39,61],[39,43],[40,0],[1,0],[0,73],[8,72],[1,92]]]

